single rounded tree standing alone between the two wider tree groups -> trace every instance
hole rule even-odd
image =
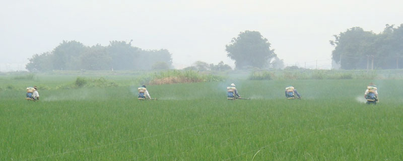
[[[274,50],[270,43],[257,31],[241,32],[237,38],[232,38],[231,44],[226,45],[227,56],[235,60],[236,68],[248,66],[263,68],[268,66]]]

